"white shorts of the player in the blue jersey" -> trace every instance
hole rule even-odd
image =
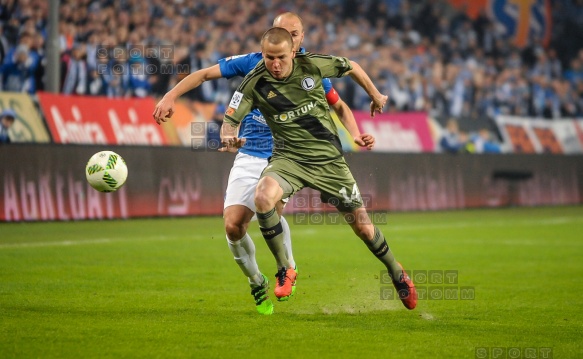
[[[249,156],[241,152],[237,154],[229,174],[223,209],[239,204],[255,212],[255,188],[265,166],[267,158]]]

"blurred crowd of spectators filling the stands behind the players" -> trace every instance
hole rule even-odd
[[[48,2],[0,2],[0,86],[45,87]],[[283,11],[303,17],[311,52],[359,62],[388,94],[391,110],[444,118],[496,114],[583,116],[583,1],[552,2],[548,46],[519,49],[485,14],[470,19],[445,1],[424,0],[63,0],[62,92],[162,96],[219,58],[259,50]],[[368,96],[353,82],[334,86],[353,109]],[[188,97],[226,103],[233,85],[205,83]]]

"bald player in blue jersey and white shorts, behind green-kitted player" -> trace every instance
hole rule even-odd
[[[289,12],[283,13],[275,18],[273,25],[288,30],[292,35],[294,49],[304,52],[304,49],[300,47],[304,39],[304,29],[298,15]],[[173,115],[175,100],[187,91],[200,86],[204,81],[219,78],[230,79],[235,76],[244,77],[253,70],[261,59],[261,52],[232,56],[219,60],[218,64],[214,66],[191,73],[158,102],[153,114],[154,119],[158,124],[165,122]],[[342,124],[353,137],[354,142],[369,150],[372,149],[374,137],[360,133],[352,111],[340,99],[330,80],[323,79],[322,85],[328,104],[334,109]],[[374,87],[372,82],[369,86]],[[371,107],[371,114],[372,111]],[[255,245],[247,233],[247,227],[255,215],[255,188],[263,169],[267,166],[268,158],[271,156],[273,138],[263,115],[257,109],[247,114],[239,126],[237,137],[240,140],[237,140],[236,143],[229,143],[228,146],[220,149],[223,152],[238,152],[229,175],[224,202],[223,217],[227,243],[235,262],[249,280],[257,311],[260,314],[272,314],[273,302],[267,294],[269,282],[267,277],[259,271],[255,259]],[[283,206],[283,202],[278,204],[279,214],[281,214]],[[289,225],[283,216],[281,216],[281,224],[287,259],[290,265],[297,270],[292,254]],[[291,295],[294,293],[295,281]],[[278,300],[284,301],[290,296],[278,298]]]

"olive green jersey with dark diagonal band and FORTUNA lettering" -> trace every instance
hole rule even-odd
[[[273,135],[273,158],[329,163],[342,157],[342,145],[322,78],[342,77],[350,70],[344,57],[296,53],[291,75],[277,80],[261,60],[233,95],[225,121],[236,126],[258,108]]]

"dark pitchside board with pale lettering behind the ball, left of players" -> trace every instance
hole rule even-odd
[[[183,147],[118,146],[128,179],[116,192],[87,183],[103,146],[0,146],[0,222],[218,215],[231,154]],[[217,156],[219,155],[219,156]]]

